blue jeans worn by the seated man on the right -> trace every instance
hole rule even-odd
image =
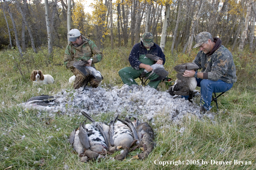
[[[197,79],[197,86],[201,87],[201,99],[200,103],[206,110],[210,110],[212,108],[212,93],[222,93],[224,91],[228,91],[232,88],[233,83],[226,83],[222,80],[212,81],[208,79]],[[188,96],[182,96],[186,100]]]

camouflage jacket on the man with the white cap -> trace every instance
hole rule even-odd
[[[85,36],[82,36],[83,43],[74,47],[72,42],[68,44],[64,54],[64,64],[66,68],[71,71],[74,70],[73,63],[75,61],[79,61],[81,59],[89,60],[93,59],[91,66],[95,68],[95,63],[98,63],[102,60],[102,53],[98,49],[98,47],[94,44],[94,42],[90,39],[87,39]],[[94,56],[93,56],[94,55]]]

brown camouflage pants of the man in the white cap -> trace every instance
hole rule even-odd
[[[74,81],[74,85],[73,88],[77,89],[80,88],[82,85],[87,85],[88,82],[90,83],[90,85],[93,88],[97,88],[98,85],[100,84],[101,80],[95,78],[93,75],[89,75],[89,76],[84,76],[78,69],[74,69],[73,74],[75,75],[75,81]]]

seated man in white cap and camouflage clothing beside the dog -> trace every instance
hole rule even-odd
[[[85,79],[89,79],[89,83],[92,87],[96,88],[100,84],[99,79],[94,76],[84,76],[78,69],[76,69],[73,64],[76,61],[86,60],[90,64],[86,66],[91,66],[95,68],[95,63],[102,60],[102,53],[94,44],[94,42],[85,36],[82,36],[80,31],[77,29],[72,29],[69,31],[69,41],[70,43],[66,47],[64,54],[64,64],[66,68],[72,71],[75,75],[75,81],[73,87],[75,89],[80,88]]]

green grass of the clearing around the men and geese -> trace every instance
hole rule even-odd
[[[219,113],[214,120],[205,117],[203,121],[195,117],[185,117],[179,124],[169,121],[168,115],[159,113],[155,116],[153,127],[156,136],[156,146],[149,157],[143,161],[135,160],[132,156],[140,152],[139,149],[129,153],[125,161],[113,161],[108,155],[100,161],[81,163],[80,158],[73,152],[68,142],[70,133],[78,127],[78,123],[84,118],[75,115],[59,115],[50,118],[47,112],[27,110],[17,104],[25,102],[32,96],[41,94],[56,94],[61,89],[72,89],[68,79],[72,76],[64,66],[55,66],[62,63],[63,51],[55,49],[53,64],[46,65],[47,52],[33,54],[31,50],[25,54],[26,58],[34,57],[33,63],[21,64],[21,76],[19,69],[14,66],[14,60],[10,55],[19,58],[15,51],[0,52],[0,169],[9,170],[63,170],[68,166],[73,169],[120,169],[120,170],[254,170],[256,169],[256,83],[255,71],[250,70],[250,65],[238,60],[234,54],[238,81],[230,91],[219,97]],[[102,85],[107,87],[122,86],[122,80],[118,71],[128,66],[130,49],[105,49],[103,61],[96,67],[104,76]],[[170,72],[169,77],[175,79],[172,67],[179,63],[192,61],[196,51],[191,56],[184,54],[170,55],[165,51],[165,68]],[[247,55],[244,54],[244,58]],[[255,56],[254,56],[255,57]],[[40,64],[39,61],[44,61]],[[23,61],[18,61],[18,63]],[[255,65],[253,61],[249,63]],[[248,69],[249,67],[249,69]],[[53,85],[33,86],[29,80],[30,72],[41,69],[45,74],[54,77]],[[138,81],[139,82],[139,81]],[[41,91],[38,90],[41,88]],[[162,83],[160,91],[168,87]],[[216,112],[215,103],[212,103]],[[38,118],[38,113],[42,115]],[[97,121],[109,122],[114,113],[94,115]],[[124,111],[124,115],[125,111]],[[121,115],[122,117],[122,115]],[[184,127],[184,132],[180,131]],[[25,137],[24,137],[25,135]],[[22,137],[23,136],[23,137]],[[40,163],[44,159],[45,163]],[[184,164],[159,165],[154,161],[184,161]],[[209,162],[208,165],[186,165],[186,160],[199,160]],[[251,161],[252,165],[216,165],[215,161]]]

